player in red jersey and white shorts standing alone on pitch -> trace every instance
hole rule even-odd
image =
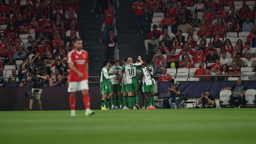
[[[88,53],[82,50],[82,39],[75,39],[75,49],[68,53],[68,65],[70,68],[68,85],[69,104],[71,116],[75,116],[75,95],[77,91],[82,91],[83,103],[85,106],[85,116],[94,114],[90,109],[90,96],[88,86]]]

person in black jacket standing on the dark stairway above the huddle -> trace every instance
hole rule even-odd
[[[107,60],[114,59],[116,44],[118,43],[118,37],[114,35],[113,29],[110,29],[110,36],[105,39],[106,51],[105,58]]]

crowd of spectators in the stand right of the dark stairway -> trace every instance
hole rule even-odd
[[[166,68],[199,65],[202,70],[195,73],[198,75],[241,74],[241,67],[256,72],[255,1],[240,1],[239,9],[238,1],[137,0],[135,15],[138,11],[145,15],[152,27],[145,40],[145,54],[152,53],[153,47],[155,73],[166,75]],[[159,12],[165,16],[161,20],[157,20]],[[154,17],[154,13],[159,15]],[[137,32],[142,34],[139,27]]]

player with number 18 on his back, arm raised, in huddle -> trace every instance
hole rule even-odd
[[[137,66],[142,65],[144,62],[141,60],[141,57],[137,58],[140,63],[133,63],[132,58],[128,58],[128,64],[121,69],[121,75],[119,80],[126,75],[126,90],[128,94],[128,107],[129,109],[137,109],[136,103],[138,103],[139,95],[138,95],[138,79],[137,79]],[[134,97],[135,94],[135,97]],[[132,107],[133,106],[133,107]]]

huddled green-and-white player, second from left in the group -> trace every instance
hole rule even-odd
[[[122,97],[121,97],[121,87],[118,85],[119,75],[120,75],[120,63],[119,59],[115,61],[110,61],[111,67],[108,69],[109,72],[116,73],[116,78],[110,79],[110,91],[111,91],[111,109],[119,109],[118,104],[120,103],[120,108],[122,108]],[[116,106],[116,107],[115,107]]]

